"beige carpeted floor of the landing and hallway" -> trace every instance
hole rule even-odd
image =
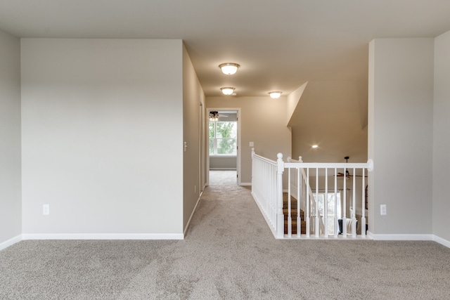
[[[185,240],[23,241],[0,299],[450,299],[435,242],[275,240],[248,188],[205,190]]]

